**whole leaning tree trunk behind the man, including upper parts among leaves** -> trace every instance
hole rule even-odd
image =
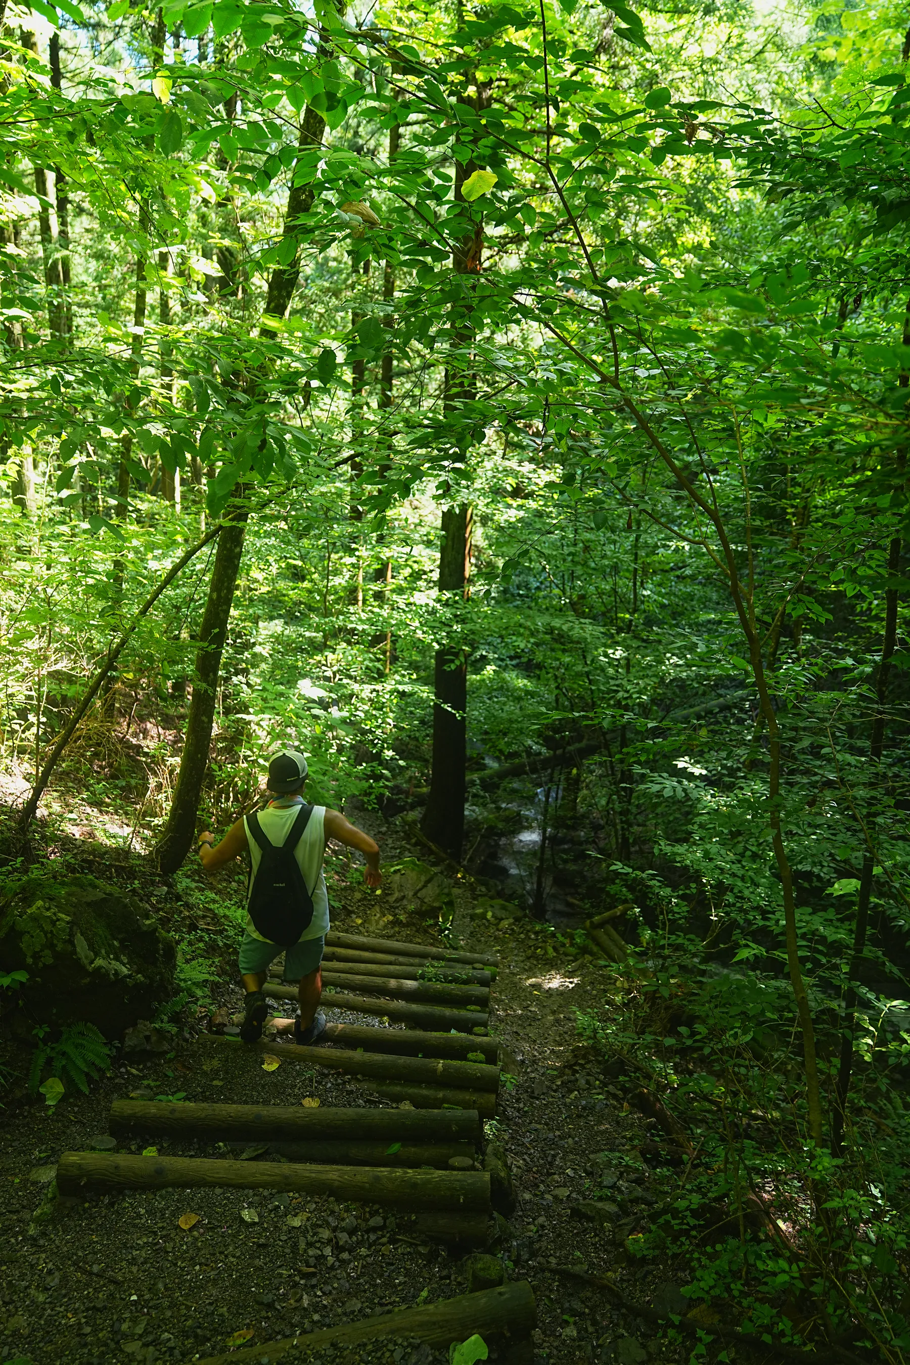
[[[322,145],[325,132],[325,119],[321,113],[307,105],[300,121],[300,136],[297,146],[310,150]],[[284,217],[284,235],[293,236],[300,214],[308,213],[312,207],[314,190],[311,184],[295,186],[292,171],[291,192]],[[295,251],[293,261],[288,266],[276,266],[269,278],[265,313],[267,317],[284,318],[297,280],[300,277],[300,257]],[[259,336],[274,337],[274,328],[263,321]],[[195,834],[202,784],[209,766],[209,748],[211,745],[211,726],[214,721],[216,689],[221,669],[221,655],[233,605],[233,592],[240,572],[243,557],[243,539],[247,528],[248,505],[244,493],[237,493],[235,509],[225,519],[224,530],[218,538],[218,550],[209,581],[209,597],[206,599],[202,629],[199,632],[199,652],[196,655],[196,680],[192,687],[190,714],[187,717],[187,730],[180,758],[180,771],[177,786],[173,793],[173,803],[168,814],[168,822],[156,846],[154,857],[160,870],[165,874],[176,872],[192,846]]]

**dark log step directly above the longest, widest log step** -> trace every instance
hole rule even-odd
[[[165,1104],[158,1100],[115,1100],[109,1132],[113,1137],[161,1133],[165,1137],[202,1137],[250,1143],[393,1143],[465,1144],[480,1137],[476,1114],[452,1110],[408,1112],[364,1108],[303,1108],[282,1104]]]

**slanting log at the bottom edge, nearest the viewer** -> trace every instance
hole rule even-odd
[[[464,1342],[475,1334],[484,1342],[491,1338],[516,1342],[528,1336],[536,1323],[533,1290],[527,1280],[516,1280],[476,1294],[460,1294],[441,1304],[405,1308],[397,1313],[383,1313],[381,1317],[366,1317],[359,1323],[326,1327],[304,1336],[285,1336],[280,1342],[263,1342],[239,1351],[209,1355],[196,1365],[259,1365],[263,1357],[273,1365],[292,1347],[300,1351],[317,1351],[333,1342],[357,1346],[360,1342],[372,1342],[382,1336],[416,1336],[427,1346],[445,1350],[452,1342]]]

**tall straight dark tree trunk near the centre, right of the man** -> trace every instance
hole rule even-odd
[[[486,98],[461,96],[461,104],[475,112],[486,108]],[[465,205],[463,186],[473,175],[473,161],[456,161],[454,198]],[[472,227],[456,243],[452,269],[464,278],[463,298],[452,306],[449,345],[452,360],[446,370],[443,408],[453,419],[453,445],[467,450],[472,433],[465,430],[465,407],[475,397],[476,384],[465,352],[473,336],[472,281],[480,273],[483,250],[483,220],[473,218]],[[439,592],[446,606],[454,606],[469,595],[471,535],[473,509],[467,502],[447,508],[442,513],[442,541],[439,546]],[[464,799],[467,790],[465,764],[468,758],[468,661],[461,646],[446,643],[434,661],[432,706],[432,771],[430,793],[420,827],[456,861],[461,857],[464,841]]]

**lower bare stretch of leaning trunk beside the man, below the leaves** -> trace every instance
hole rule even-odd
[[[228,515],[218,536],[218,549],[209,581],[209,597],[199,631],[192,699],[187,715],[177,786],[168,823],[156,848],[156,860],[164,874],[176,872],[190,852],[195,835],[199,797],[209,767],[209,745],[211,744],[221,655],[228,637],[228,621],[240,571],[247,516],[248,508],[241,497],[236,509]]]

